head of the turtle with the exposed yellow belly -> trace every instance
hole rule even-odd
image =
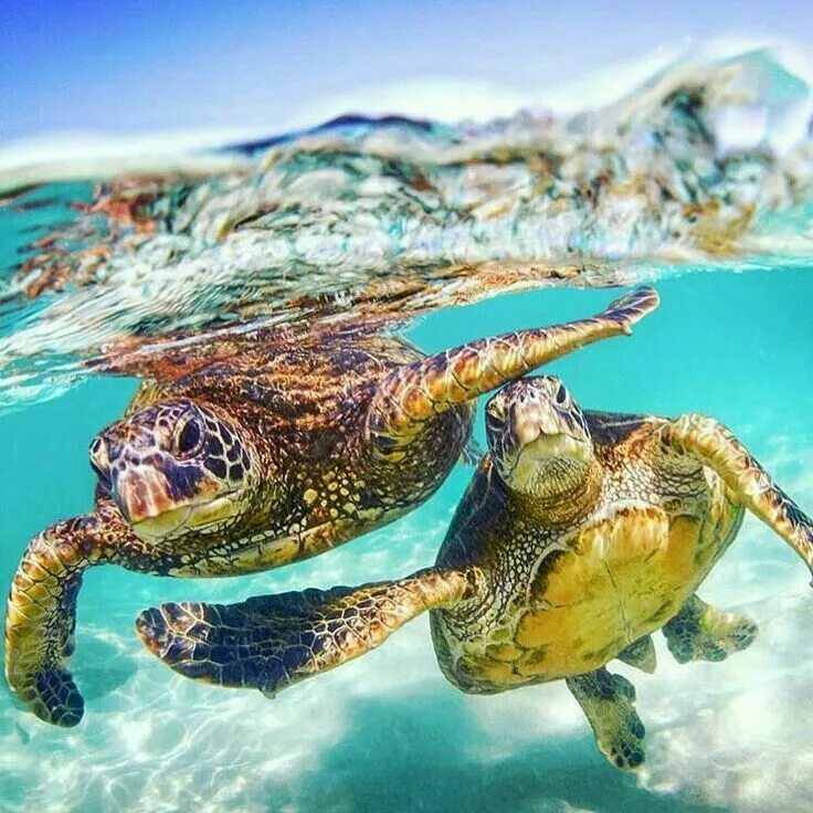
[[[519,379],[494,395],[486,434],[503,482],[541,498],[577,488],[594,461],[584,414],[556,376]]]

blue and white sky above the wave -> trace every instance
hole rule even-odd
[[[423,105],[458,118],[484,97],[503,114],[658,47],[722,35],[804,43],[813,34],[806,8],[805,0],[0,0],[0,149],[64,131],[275,133],[351,107]]]

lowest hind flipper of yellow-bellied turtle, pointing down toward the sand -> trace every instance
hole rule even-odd
[[[615,768],[630,771],[644,762],[644,724],[635,711],[635,687],[601,668],[567,678],[584,711],[599,750]]]

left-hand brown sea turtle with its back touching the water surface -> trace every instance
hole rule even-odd
[[[414,508],[471,435],[475,399],[579,347],[631,332],[638,288],[594,318],[426,357],[355,329],[246,334],[162,359],[91,444],[91,514],[29,545],[6,616],[6,676],[43,720],[73,726],[66,668],[91,566],[237,576],[305,559]]]

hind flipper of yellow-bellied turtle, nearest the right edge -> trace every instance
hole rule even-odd
[[[725,661],[747,650],[757,637],[757,624],[745,615],[725,613],[697,595],[689,598],[663,629],[675,661]]]

